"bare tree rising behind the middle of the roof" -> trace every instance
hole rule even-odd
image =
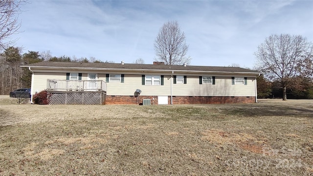
[[[186,57],[186,37],[184,32],[180,31],[177,21],[163,24],[156,36],[154,48],[157,62],[164,62],[166,65],[190,64],[191,57]]]

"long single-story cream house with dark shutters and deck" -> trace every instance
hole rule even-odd
[[[226,66],[164,63],[29,64],[31,94],[47,90],[49,104],[208,104],[257,102],[260,72]]]

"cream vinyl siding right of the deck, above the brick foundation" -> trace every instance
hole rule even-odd
[[[141,85],[141,75],[125,75],[125,87],[107,85],[107,95],[133,96],[136,89],[140,89],[140,96],[171,95],[171,76],[164,75],[164,86]],[[172,78],[173,79],[173,78]],[[232,86],[231,77],[215,77],[215,85],[199,85],[199,76],[188,76],[188,84],[172,84],[173,96],[255,96],[254,78],[248,78],[248,85]]]

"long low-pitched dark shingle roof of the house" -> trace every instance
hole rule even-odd
[[[230,66],[174,66],[152,64],[116,64],[116,63],[74,63],[40,62],[22,67],[51,69],[98,69],[98,70],[133,70],[133,71],[180,71],[180,72],[224,72],[260,74],[259,71]]]

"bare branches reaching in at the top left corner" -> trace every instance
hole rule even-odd
[[[21,22],[18,21],[21,13],[20,6],[26,0],[0,0],[0,47],[6,49],[14,44],[10,36],[19,32]]]

